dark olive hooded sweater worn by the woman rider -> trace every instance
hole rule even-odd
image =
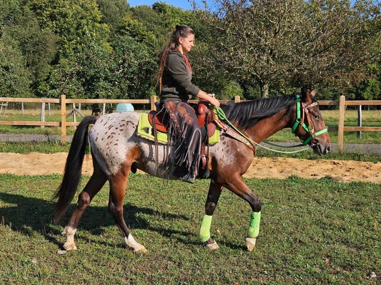
[[[172,50],[168,54],[164,69],[160,93],[160,102],[188,100],[195,97],[200,89],[191,82],[191,70],[187,68],[183,55]]]

